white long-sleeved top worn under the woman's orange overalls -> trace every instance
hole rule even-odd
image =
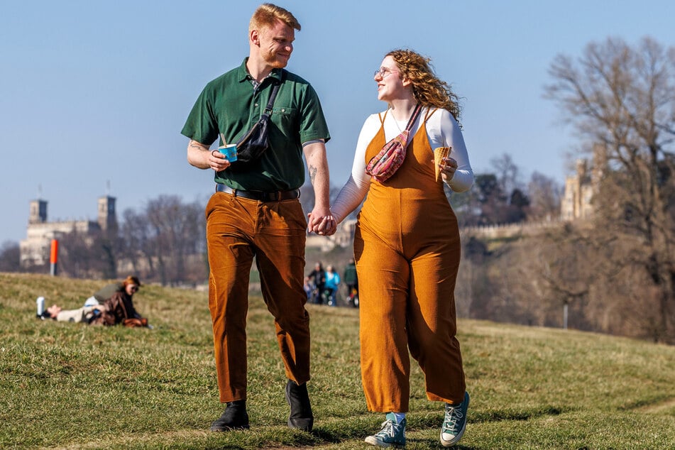
[[[384,115],[384,112],[380,114]],[[358,134],[351,176],[340,190],[335,203],[331,207],[333,216],[338,223],[356,209],[368,194],[368,189],[371,186],[371,175],[366,173],[366,148],[380,131],[380,114],[368,116],[361,128],[361,133]],[[422,108],[417,123],[410,132],[409,142],[412,141],[413,136],[422,126],[422,121],[426,115],[427,108]],[[398,136],[402,130],[405,130],[406,125],[407,120],[397,121],[389,111],[384,121],[385,141],[389,142]],[[468,160],[468,153],[459,124],[449,111],[438,109],[427,119],[427,138],[429,138],[431,148],[452,148],[449,157],[457,161],[457,170],[448,185],[454,192],[468,190],[473,185],[473,170]],[[429,158],[432,159],[433,155],[429,155]]]

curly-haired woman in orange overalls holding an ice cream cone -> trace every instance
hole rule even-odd
[[[332,208],[342,221],[368,194],[354,238],[361,281],[361,376],[368,410],[387,415],[380,432],[366,442],[405,444],[410,350],[424,372],[427,398],[445,402],[440,439],[453,446],[466,426],[469,397],[455,337],[461,244],[444,185],[462,192],[473,184],[457,122],[459,106],[429,60],[412,50],[388,53],[374,79],[378,99],[389,108],[366,119],[351,177]],[[411,124],[402,165],[388,180],[375,180],[366,164],[405,129],[417,105],[422,108]],[[437,147],[451,147],[439,161],[438,180]]]

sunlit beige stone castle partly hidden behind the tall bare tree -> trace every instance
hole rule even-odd
[[[560,202],[561,219],[586,219],[593,214],[593,194],[598,192],[605,171],[607,151],[602,144],[593,146],[593,167],[588,160],[576,161],[576,173],[565,179],[565,193]]]

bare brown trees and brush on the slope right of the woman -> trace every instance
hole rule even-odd
[[[610,38],[559,55],[549,74],[545,95],[581,148],[600,149],[593,214],[532,236],[469,237],[458,311],[675,344],[675,48]]]

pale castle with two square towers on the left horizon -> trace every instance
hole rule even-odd
[[[84,238],[94,236],[114,236],[117,233],[117,215],[114,197],[100,197],[97,221],[69,220],[47,221],[47,202],[42,199],[32,200],[31,212],[28,216],[26,239],[19,242],[21,265],[43,265],[49,263],[52,239],[76,231]]]

